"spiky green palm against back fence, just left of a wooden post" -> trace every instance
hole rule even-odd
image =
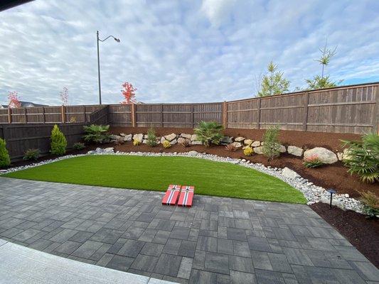
[[[223,129],[224,126],[215,121],[200,121],[198,128],[194,132],[198,136],[198,141],[203,142],[208,147],[211,144],[218,145],[220,143],[223,138],[221,133]]]

